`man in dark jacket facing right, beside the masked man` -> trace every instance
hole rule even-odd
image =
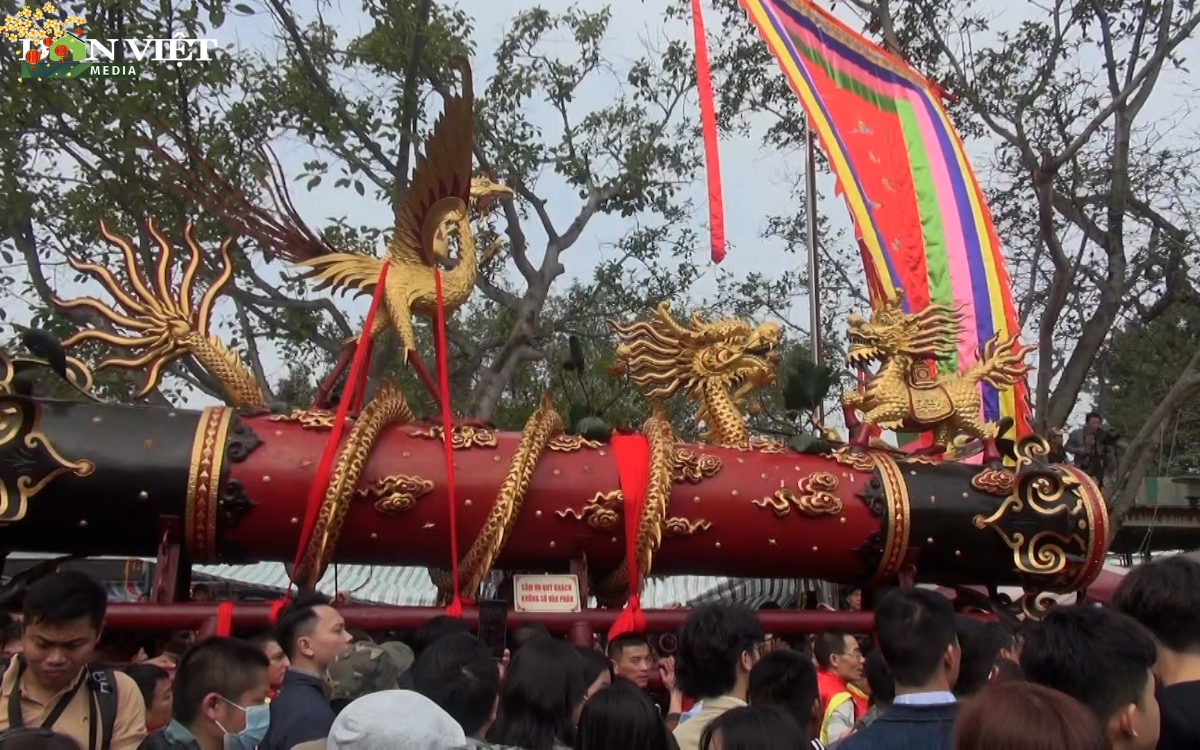
[[[329,736],[334,709],[325,677],[352,641],[346,620],[320,594],[300,596],[284,607],[276,630],[292,666],[271,701],[271,728],[260,750],[292,750]]]

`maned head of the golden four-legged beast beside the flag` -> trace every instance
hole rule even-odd
[[[962,316],[944,305],[930,305],[918,313],[904,311],[904,292],[887,299],[870,319],[851,313],[846,319],[850,352],[846,364],[866,367],[895,356],[943,358],[958,346]]]

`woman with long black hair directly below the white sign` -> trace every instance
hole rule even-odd
[[[504,674],[488,742],[523,750],[570,750],[587,691],[580,661],[565,643],[526,643]]]

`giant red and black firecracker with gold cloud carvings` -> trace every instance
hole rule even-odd
[[[4,547],[152,556],[157,518],[169,515],[185,521],[194,562],[292,559],[328,415],[4,398],[8,419],[28,413],[0,436]],[[448,568],[439,438],[440,427],[421,422],[383,431],[331,559]],[[468,426],[452,440],[461,548],[486,539],[500,569],[565,570],[586,554],[600,580],[619,566],[622,498],[606,445],[550,437],[530,456],[536,467],[521,493],[502,487],[530,440]],[[654,574],[866,583],[907,563],[923,582],[1072,590],[1094,577],[1106,548],[1091,480],[1032,455],[1013,472],[845,448],[828,456],[672,449]],[[18,463],[18,454],[31,458]],[[514,505],[509,535],[491,533],[490,517]],[[478,572],[466,565],[462,575]]]

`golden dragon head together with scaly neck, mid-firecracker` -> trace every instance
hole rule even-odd
[[[779,325],[751,328],[733,318],[708,323],[697,313],[684,326],[671,316],[668,302],[649,320],[610,325],[624,341],[617,347],[618,360],[648,397],[686,394],[700,403],[696,421],[707,428],[706,442],[743,450],[755,444],[738,404],[774,383]]]

